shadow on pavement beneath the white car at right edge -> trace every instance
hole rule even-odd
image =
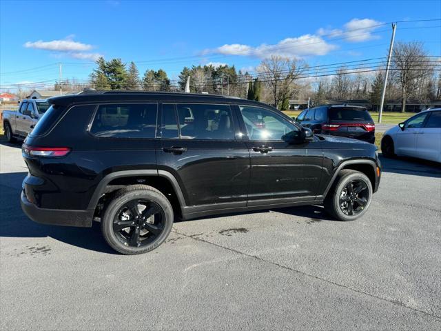
[[[411,157],[388,159],[382,155],[380,155],[380,161],[383,172],[441,178],[441,163]]]

